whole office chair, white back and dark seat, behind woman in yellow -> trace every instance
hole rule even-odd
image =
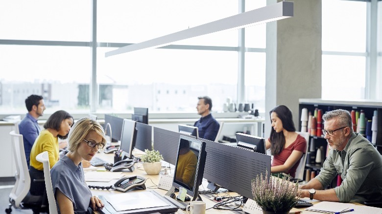
[[[11,135],[12,150],[16,160],[16,182],[9,194],[9,208],[5,209],[5,213],[11,213],[12,206],[16,209],[32,209],[33,214],[46,212],[47,209],[41,207],[42,196],[29,193],[30,176],[26,165],[23,135],[16,134],[14,130],[9,134]]]

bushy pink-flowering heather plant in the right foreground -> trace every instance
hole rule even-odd
[[[252,180],[253,199],[263,209],[263,214],[288,214],[300,199],[298,182],[290,185],[289,177],[274,177],[268,179],[258,174]]]

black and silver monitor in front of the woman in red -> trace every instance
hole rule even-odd
[[[238,147],[265,154],[265,139],[249,134],[236,133]]]

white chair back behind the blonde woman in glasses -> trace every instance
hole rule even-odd
[[[47,190],[49,214],[58,214],[56,200],[54,198],[52,180],[50,179],[50,165],[48,151],[44,151],[36,156],[36,160],[43,163],[44,166],[44,178],[45,189]]]

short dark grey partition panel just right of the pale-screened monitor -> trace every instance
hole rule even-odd
[[[137,141],[135,148],[141,151],[152,149],[152,126],[137,123]]]

